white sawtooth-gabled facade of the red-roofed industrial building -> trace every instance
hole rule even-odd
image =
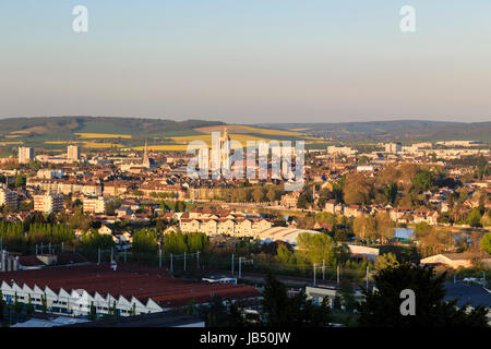
[[[31,288],[26,284],[21,287],[15,282],[9,285],[5,281],[2,282],[0,289],[3,301],[7,304],[14,304],[16,297],[17,302],[28,304],[31,300],[34,309],[41,311],[43,299],[46,299],[47,311],[60,315],[88,316],[91,314],[91,306],[95,306],[99,315],[107,315],[115,308],[119,316],[130,316],[132,313],[140,315],[164,311],[152,299],[148,299],[146,304],[143,304],[134,297],[130,300],[122,296],[115,298],[111,294],[106,294],[106,297],[103,297],[98,292],[89,294],[83,289],[65,291],[63,288],[60,288],[56,292],[48,286],[45,289],[40,289],[37,285]]]

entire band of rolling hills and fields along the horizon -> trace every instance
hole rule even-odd
[[[327,144],[402,141],[475,140],[491,144],[491,122],[438,122],[424,120],[226,124],[220,121],[172,121],[142,118],[39,117],[0,119],[0,151],[12,153],[20,145],[63,149],[67,144],[86,148],[140,149],[145,140],[158,151],[183,151],[189,142],[209,144],[213,132],[225,128],[232,140],[306,141],[308,148]]]

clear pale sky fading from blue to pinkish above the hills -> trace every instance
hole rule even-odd
[[[489,0],[0,0],[0,118],[491,121]]]

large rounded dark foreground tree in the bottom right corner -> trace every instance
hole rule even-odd
[[[487,309],[458,309],[457,300],[445,302],[445,274],[433,268],[403,264],[380,270],[374,276],[376,290],[363,290],[366,302],[358,304],[358,322],[367,327],[487,327]],[[415,315],[403,315],[403,290],[415,292]],[[407,303],[403,304],[405,308]]]

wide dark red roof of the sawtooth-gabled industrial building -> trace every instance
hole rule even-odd
[[[115,298],[123,296],[128,300],[135,297],[143,303],[152,299],[163,308],[185,305],[192,300],[196,303],[207,302],[213,294],[225,299],[261,296],[251,286],[196,282],[175,278],[166,269],[130,264],[119,264],[116,272],[109,263],[105,263],[0,274],[0,284],[2,280],[11,284],[12,279],[21,287],[23,284],[31,288],[37,285],[41,289],[48,286],[55,292],[61,288],[65,291],[84,289],[91,294],[110,293]]]

